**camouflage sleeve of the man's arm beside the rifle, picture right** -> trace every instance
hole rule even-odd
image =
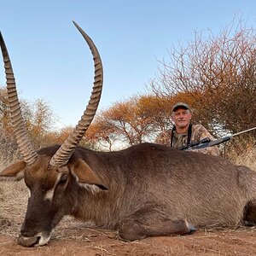
[[[212,134],[207,131],[207,129],[203,125],[193,125],[192,126],[192,137],[191,141],[199,142],[203,138],[209,137],[210,140],[215,140]],[[208,147],[208,148],[200,148],[200,149],[193,149],[193,152],[200,152],[203,154],[212,154],[212,155],[219,155],[218,146]]]

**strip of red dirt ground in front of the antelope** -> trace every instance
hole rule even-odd
[[[67,228],[44,247],[21,247],[16,238],[0,236],[0,255],[256,255],[256,229],[199,230],[189,236],[149,237],[125,242],[116,233],[91,228]]]

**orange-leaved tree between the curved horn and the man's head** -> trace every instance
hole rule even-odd
[[[158,96],[132,96],[124,102],[99,113],[85,137],[107,145],[112,150],[118,147],[154,141],[157,132],[164,131],[170,123],[169,100]]]

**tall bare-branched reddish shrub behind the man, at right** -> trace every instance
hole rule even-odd
[[[194,40],[172,47],[169,60],[160,61],[148,89],[188,102],[195,122],[216,137],[254,127],[255,39],[256,30],[238,16],[217,35],[195,32]],[[251,134],[256,138],[256,130]]]

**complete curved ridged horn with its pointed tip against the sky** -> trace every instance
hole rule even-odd
[[[69,135],[69,137],[67,137],[67,140],[61,145],[61,147],[50,160],[49,164],[51,166],[63,166],[67,164],[67,161],[73,154],[74,149],[78,146],[79,142],[84,136],[84,132],[87,131],[92,119],[94,118],[96,114],[96,109],[98,107],[102,95],[103,67],[99,52],[96,49],[96,45],[89,38],[89,36],[82,30],[82,28],[79,27],[79,25],[76,24],[74,21],[73,24],[77,27],[79,32],[84,37],[93,55],[95,67],[94,85],[90,95],[90,101],[88,102],[84,114],[79,120],[79,124],[76,125],[73,132]]]

